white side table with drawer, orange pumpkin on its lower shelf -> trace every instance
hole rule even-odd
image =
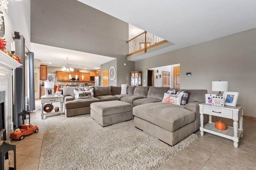
[[[211,104],[199,104],[200,106],[200,131],[201,136],[204,132],[212,133],[234,141],[234,147],[238,147],[240,137],[243,137],[243,105],[232,106],[212,106]],[[209,122],[204,125],[204,114],[209,115]],[[233,119],[233,127],[227,126],[226,130],[219,130],[212,122],[212,115]],[[239,128],[238,128],[239,121]]]

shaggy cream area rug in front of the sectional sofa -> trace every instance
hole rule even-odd
[[[47,117],[39,169],[157,169],[197,137],[171,147],[135,128],[133,120],[102,127],[90,114]]]

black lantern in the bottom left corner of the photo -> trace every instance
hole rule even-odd
[[[0,151],[1,151],[1,167],[0,170],[4,170],[4,155],[5,158],[8,157],[8,151],[13,150],[14,151],[14,168],[9,167],[9,169],[16,170],[16,145],[11,145],[6,142],[3,142],[2,145],[0,145]]]

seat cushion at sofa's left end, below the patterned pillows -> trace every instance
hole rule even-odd
[[[79,107],[88,107],[91,103],[100,102],[97,98],[87,98],[87,99],[80,99],[80,100],[71,100],[65,102],[65,109],[74,109]]]

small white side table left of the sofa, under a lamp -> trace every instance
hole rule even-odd
[[[44,115],[50,115],[50,114],[63,114],[63,100],[64,100],[64,96],[41,96],[41,119],[44,119]],[[51,111],[49,113],[44,112],[44,104],[46,103],[58,103],[60,102],[60,109],[59,111]]]

